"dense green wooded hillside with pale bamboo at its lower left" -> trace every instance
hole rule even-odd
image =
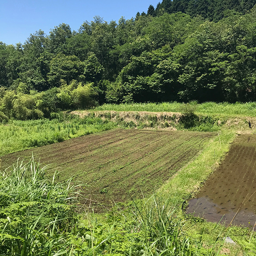
[[[130,20],[1,42],[0,121],[103,103],[254,101],[255,3],[163,0]]]

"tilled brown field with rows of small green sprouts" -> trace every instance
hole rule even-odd
[[[116,129],[46,145],[2,158],[5,166],[17,157],[31,157],[58,169],[61,180],[74,177],[87,184],[84,194],[93,202],[129,201],[151,195],[191,161],[215,133]]]

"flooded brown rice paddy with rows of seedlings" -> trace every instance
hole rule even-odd
[[[254,226],[256,221],[256,135],[240,135],[187,213],[208,221]],[[249,224],[250,222],[250,224]]]

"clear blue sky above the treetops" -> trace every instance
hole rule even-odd
[[[78,30],[85,21],[99,15],[106,21],[135,17],[137,12],[147,12],[160,0],[0,0],[0,41],[6,44],[24,43],[26,38],[41,29],[50,29],[67,23]]]

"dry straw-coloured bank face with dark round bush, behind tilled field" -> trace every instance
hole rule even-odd
[[[122,128],[170,128],[177,130],[190,131],[219,131],[225,124],[225,118],[217,116],[198,115],[193,111],[186,110],[183,113],[166,113],[166,112],[116,112],[116,111],[95,111],[95,112],[78,112],[72,114],[79,115],[81,118],[88,117],[92,113],[94,116],[103,120],[107,119],[116,123]]]

